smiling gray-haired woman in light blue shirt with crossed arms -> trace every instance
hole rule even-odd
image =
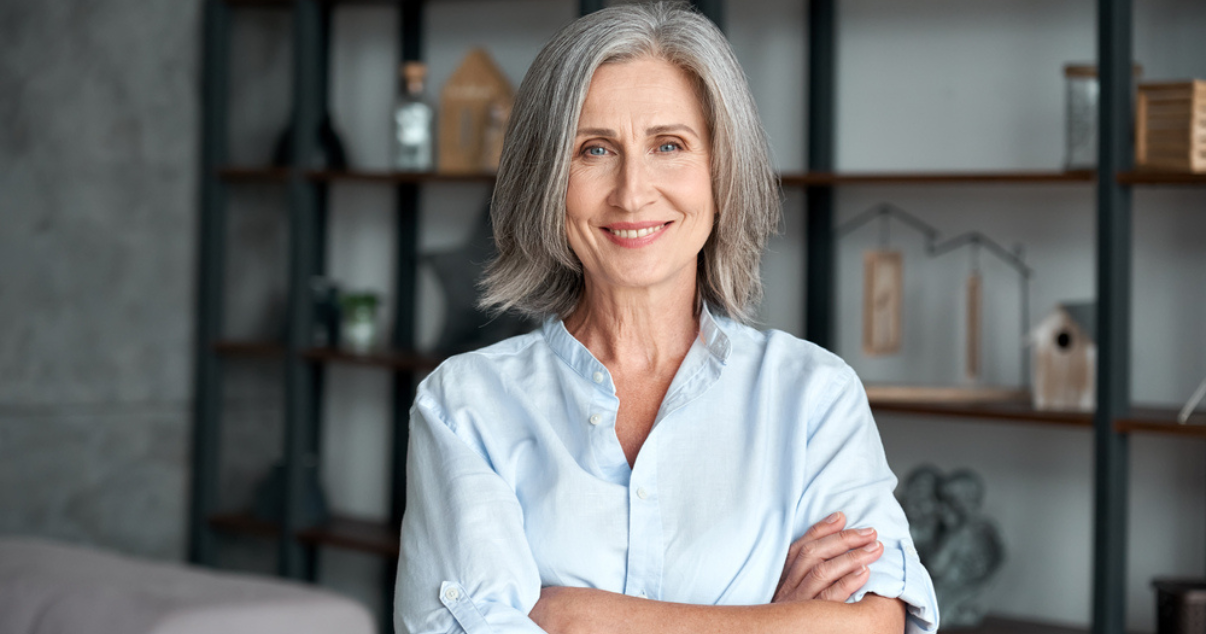
[[[484,305],[546,319],[420,386],[399,632],[936,629],[854,372],[742,324],[778,189],[715,27],[563,29],[492,215]]]

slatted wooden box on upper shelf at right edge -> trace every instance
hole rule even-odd
[[[1206,81],[1140,84],[1135,166],[1206,172]]]

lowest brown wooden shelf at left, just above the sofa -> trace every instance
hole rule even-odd
[[[279,539],[281,527],[253,516],[250,511],[210,516],[210,526],[226,533]],[[371,522],[353,517],[334,516],[323,526],[305,528],[295,534],[298,541],[312,546],[332,546],[398,557],[398,530],[387,522]]]

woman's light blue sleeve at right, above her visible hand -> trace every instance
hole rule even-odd
[[[937,632],[933,582],[918,558],[904,511],[894,495],[896,476],[888,468],[862,383],[844,368],[818,403],[808,417],[808,480],[797,513],[800,526],[807,528],[842,511],[848,527],[874,528],[884,553],[868,567],[871,577],[850,600],[861,600],[867,593],[898,598],[908,607],[908,634]]]

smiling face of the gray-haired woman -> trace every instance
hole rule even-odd
[[[566,194],[587,284],[690,284],[712,233],[712,139],[691,77],[660,59],[595,71]]]

